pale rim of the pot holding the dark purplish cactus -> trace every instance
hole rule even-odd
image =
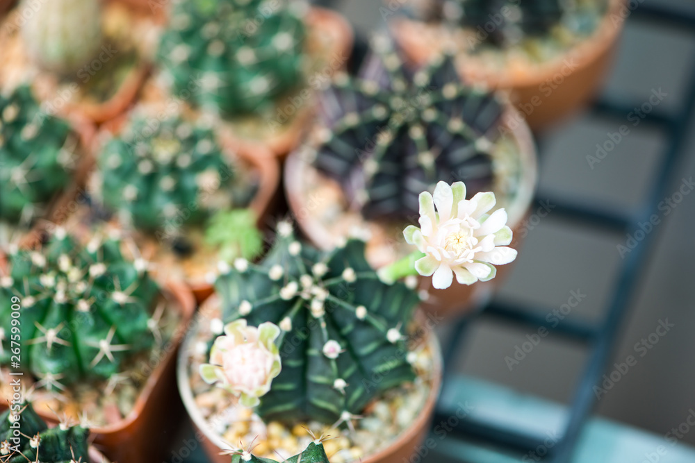
[[[521,224],[533,202],[538,177],[536,147],[528,124],[510,104],[506,105],[501,126],[509,129],[509,132],[512,133],[512,139],[518,147],[519,164],[521,165],[521,182],[514,199],[506,207],[507,225],[514,229]],[[303,187],[300,179],[303,177],[302,169],[306,167],[307,163],[302,160],[300,150],[293,151],[285,162],[284,187],[288,205],[297,224],[310,241],[320,249],[330,249],[336,237],[312,214],[297,213],[302,210],[304,205]]]

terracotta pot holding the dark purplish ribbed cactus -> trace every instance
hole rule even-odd
[[[536,149],[528,126],[513,108],[509,107],[505,112],[502,127],[510,134],[518,153],[518,187],[513,199],[505,205],[509,217],[507,224],[518,232],[532,203],[536,187]],[[404,248],[402,244],[402,231],[407,224],[386,226],[377,221],[366,221],[358,211],[349,210],[341,187],[311,166],[302,157],[300,150],[287,158],[284,179],[293,217],[306,237],[318,248],[332,249],[338,241],[351,233],[351,227],[357,227],[366,228],[370,234],[367,260],[375,268],[390,264],[414,250],[411,246]],[[322,196],[321,192],[312,193],[307,189],[317,182],[329,185],[329,194]],[[313,212],[323,201],[329,201],[333,205],[330,217],[317,217],[316,212]],[[345,221],[336,220],[335,215],[345,218]],[[516,249],[521,244],[520,238],[518,234],[515,236]],[[428,290],[430,294],[430,298],[423,303],[423,308],[445,317],[473,310],[499,287],[509,272],[509,265],[498,266],[498,276],[489,282],[478,282],[471,286],[454,284],[443,290],[431,288],[432,278],[419,277],[418,287]]]

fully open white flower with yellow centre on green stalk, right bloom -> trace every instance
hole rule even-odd
[[[432,276],[433,287],[450,287],[454,275],[462,285],[491,280],[497,273],[494,265],[516,259],[516,250],[506,246],[512,242],[507,212],[487,214],[495,204],[491,192],[466,199],[463,182],[437,183],[434,197],[420,193],[420,228],[408,226],[403,235],[425,253],[415,268],[422,276]]]

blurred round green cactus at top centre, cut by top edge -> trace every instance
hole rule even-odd
[[[288,0],[174,0],[158,61],[175,93],[233,117],[260,112],[300,84],[306,31]]]

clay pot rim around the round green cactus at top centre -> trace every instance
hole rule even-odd
[[[327,51],[327,57],[330,58],[335,53],[342,53],[345,54],[345,56],[350,56],[352,44],[354,42],[354,33],[350,22],[347,22],[347,19],[345,19],[343,15],[328,8],[310,6],[304,18],[304,22],[309,28],[315,28],[318,31],[329,31],[336,39],[334,47]],[[324,24],[327,26],[324,26]],[[347,61],[341,65],[341,69],[344,69],[346,64]],[[306,77],[310,76],[311,74]],[[308,88],[310,88],[309,85],[303,85],[300,91]],[[313,90],[313,92],[319,93],[320,90]],[[302,142],[304,133],[306,132],[306,126],[311,121],[315,112],[314,106],[315,105],[304,106],[304,108],[295,115],[291,124],[284,126],[281,128],[279,134],[270,135],[266,140],[235,136],[233,121],[226,121],[226,125],[230,127],[230,133],[227,136],[229,140],[234,143],[234,146],[239,146],[245,151],[256,149],[257,146],[263,146],[275,157],[284,159],[287,157],[288,153]]]

